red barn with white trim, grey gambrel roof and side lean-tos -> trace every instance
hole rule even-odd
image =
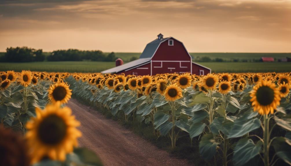
[[[184,44],[173,38],[158,38],[145,46],[139,59],[102,71],[101,73],[125,75],[155,75],[159,73],[186,73],[206,75],[211,69],[192,62]]]

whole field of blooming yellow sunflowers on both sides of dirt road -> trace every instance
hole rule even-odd
[[[290,84],[291,73],[7,71],[1,73],[0,119],[24,134],[33,164],[100,164],[84,159],[94,155],[90,150],[77,148],[80,123],[65,107],[72,95],[126,122],[147,125],[168,138],[172,149],[181,135],[190,146],[199,142],[200,156],[212,165],[291,165]]]

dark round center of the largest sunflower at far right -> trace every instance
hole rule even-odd
[[[267,106],[274,100],[274,90],[268,86],[261,86],[256,93],[259,104]]]

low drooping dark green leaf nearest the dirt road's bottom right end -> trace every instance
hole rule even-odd
[[[216,147],[219,143],[215,142],[212,133],[205,134],[199,142],[199,152],[201,156],[209,161],[216,153]]]

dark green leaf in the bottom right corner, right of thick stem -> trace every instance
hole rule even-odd
[[[276,155],[285,163],[291,165],[291,140],[285,137],[274,138],[272,146],[276,151]]]

